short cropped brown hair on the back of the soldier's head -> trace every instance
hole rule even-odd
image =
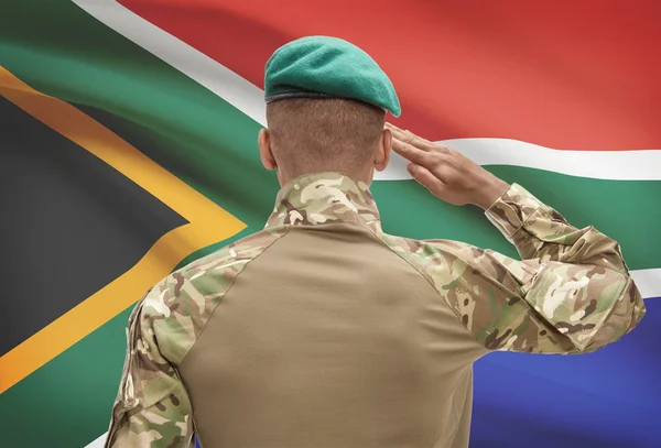
[[[267,106],[273,156],[292,178],[336,171],[356,174],[372,162],[384,110],[340,98],[293,98]]]

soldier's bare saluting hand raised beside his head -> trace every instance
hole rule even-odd
[[[455,205],[489,208],[509,187],[477,163],[447,146],[386,123],[392,132],[392,151],[409,160],[411,176],[437,198]]]

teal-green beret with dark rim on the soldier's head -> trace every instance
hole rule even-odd
[[[308,36],[273,53],[264,74],[267,102],[288,98],[346,98],[399,117],[397,92],[381,67],[356,45],[337,37]]]

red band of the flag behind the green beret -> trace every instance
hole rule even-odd
[[[655,0],[121,0],[263,87],[263,66],[307,34],[370,53],[402,101],[398,124],[432,139],[661,149]]]

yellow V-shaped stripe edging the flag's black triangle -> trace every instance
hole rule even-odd
[[[72,105],[41,94],[0,66],[0,95],[95,154],[189,223],[161,237],[133,267],[0,358],[0,393],[124,310],[189,253],[246,225]],[[35,255],[37,256],[37,255]]]

